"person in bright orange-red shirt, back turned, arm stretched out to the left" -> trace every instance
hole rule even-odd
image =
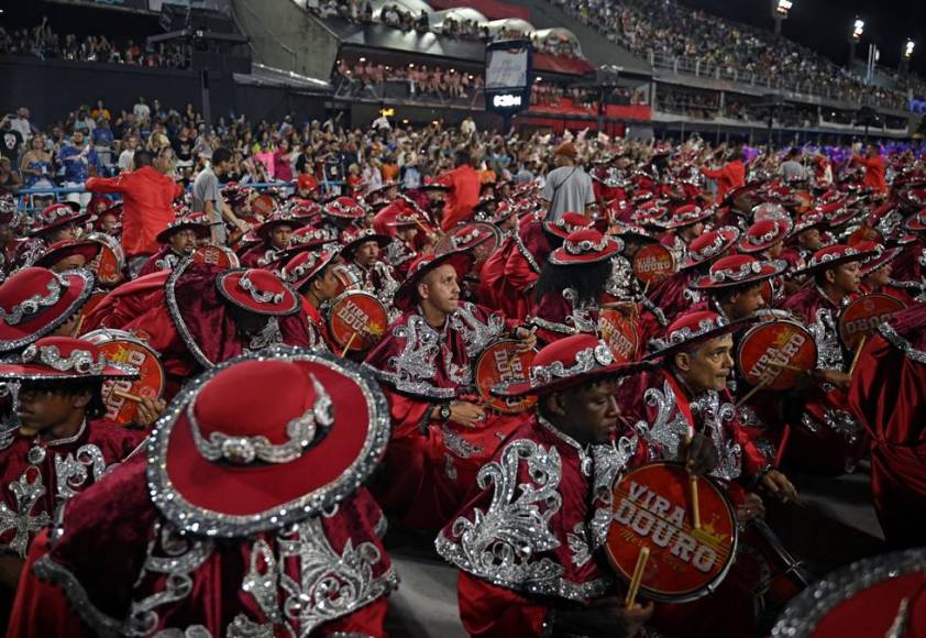
[[[178,184],[155,169],[153,163],[151,152],[140,150],[132,158],[134,170],[87,180],[90,193],[122,195],[122,249],[133,277],[161,248],[157,233],[174,221],[173,201],[184,193]]]

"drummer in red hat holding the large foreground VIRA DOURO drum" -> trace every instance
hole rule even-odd
[[[461,570],[460,617],[471,636],[630,637],[652,614],[651,604],[625,607],[602,551],[610,487],[636,446],[617,440],[617,382],[640,365],[616,364],[596,337],[574,334],[543,348],[528,378],[497,388],[538,396],[537,409],[436,541]],[[713,465],[699,435],[681,452],[696,472]],[[478,560],[485,556],[511,560]]]

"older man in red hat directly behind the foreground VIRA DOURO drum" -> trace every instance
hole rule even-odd
[[[747,321],[728,321],[710,311],[681,316],[663,338],[650,342],[650,359],[659,360],[661,367],[633,377],[618,392],[620,405],[626,406],[621,422],[626,431],[639,436],[638,461],[675,459],[694,433],[710,439],[718,461],[709,473],[727,487],[741,525],[764,514],[762,499],[748,486],[759,485],[784,502],[797,497],[787,477],[743,431],[727,387],[734,365],[732,333]],[[756,584],[730,574],[701,602],[659,606],[654,624],[670,635],[756,636]]]

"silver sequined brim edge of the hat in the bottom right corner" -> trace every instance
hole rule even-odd
[[[829,612],[866,590],[926,570],[926,549],[869,557],[829,572],[797,594],[772,627],[772,637],[808,637]]]

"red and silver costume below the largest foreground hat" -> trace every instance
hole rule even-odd
[[[211,636],[227,636],[230,627],[284,636],[284,624],[297,635],[302,628],[320,636],[385,636],[385,595],[397,579],[379,540],[382,513],[363,488],[339,503],[332,516],[300,521],[297,534],[266,531],[221,542],[180,537],[147,490],[145,463],[133,459],[68,506],[63,536],[51,549],[47,535],[33,544],[8,636],[79,638],[130,627],[154,634],[194,626]],[[297,557],[283,576],[277,569],[284,563],[274,558],[280,553]],[[309,605],[300,613],[290,605],[295,619],[268,617],[265,609],[276,605],[277,587],[287,578],[312,602],[313,593],[323,595],[316,587],[326,578],[356,590],[339,591],[338,603],[326,609]],[[269,605],[261,604],[262,588],[272,596]],[[282,588],[287,594],[293,591]]]

